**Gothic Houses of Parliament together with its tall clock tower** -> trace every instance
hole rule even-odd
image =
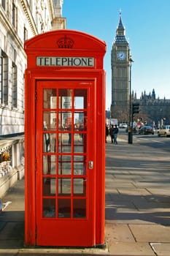
[[[157,125],[163,124],[164,121],[164,124],[169,124],[170,99],[156,97],[154,89],[149,94],[143,91],[141,97],[137,99],[136,93],[131,91],[131,64],[130,47],[125,38],[125,28],[120,13],[111,51],[112,104],[107,118],[117,118],[119,122],[128,122],[131,102],[139,103],[139,113],[134,116],[135,121],[140,119],[147,123],[155,122]]]

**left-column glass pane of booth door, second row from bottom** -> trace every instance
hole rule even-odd
[[[56,186],[55,186],[55,178],[43,178],[42,185],[43,195],[55,195]]]

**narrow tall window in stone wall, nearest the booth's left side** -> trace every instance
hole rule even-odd
[[[12,108],[17,108],[17,66],[12,62]]]

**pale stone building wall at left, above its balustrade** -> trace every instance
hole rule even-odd
[[[26,39],[66,29],[63,0],[0,1],[0,136],[24,132]]]

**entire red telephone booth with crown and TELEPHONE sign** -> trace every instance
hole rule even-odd
[[[106,44],[58,30],[25,50],[25,244],[104,245]]]

